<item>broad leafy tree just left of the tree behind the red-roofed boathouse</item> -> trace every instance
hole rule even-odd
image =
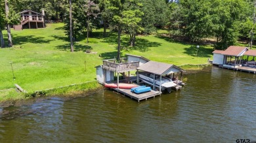
[[[203,38],[211,37],[214,35],[215,18],[219,18],[218,12],[214,12],[217,8],[215,1],[199,0],[199,1],[180,1],[183,20],[182,27],[184,26],[186,37],[192,42],[200,42]]]

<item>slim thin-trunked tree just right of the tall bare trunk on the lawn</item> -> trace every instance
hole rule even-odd
[[[87,16],[87,41],[86,41],[86,43],[88,43],[89,42],[88,39],[89,39],[89,29],[90,29],[90,17],[93,16],[93,18],[96,18],[100,9],[98,8],[98,5],[95,4],[91,0],[87,0],[87,3],[86,3],[86,5],[84,5],[84,7],[85,7],[86,16]]]

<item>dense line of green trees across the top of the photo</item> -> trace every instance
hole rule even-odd
[[[71,40],[87,35],[89,42],[93,29],[100,26],[104,27],[104,37],[107,28],[115,31],[119,52],[122,33],[127,33],[127,42],[136,46],[136,35],[151,34],[158,27],[167,28],[170,38],[192,42],[216,39],[217,49],[234,45],[238,39],[248,43],[251,37],[255,39],[255,0],[0,0],[0,7],[0,37],[7,24],[16,22],[18,12],[44,9],[47,20],[64,22]]]

